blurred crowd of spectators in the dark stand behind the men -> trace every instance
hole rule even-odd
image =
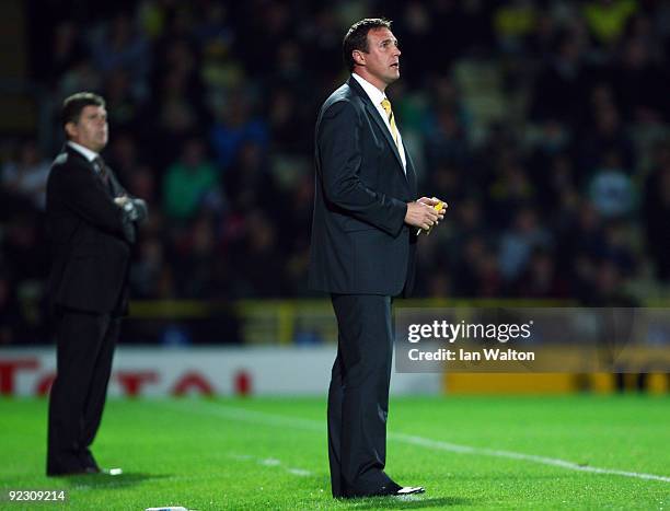
[[[102,94],[105,160],[149,202],[136,299],[310,295],[313,127],[365,16],[394,22],[402,77],[388,93],[420,193],[449,202],[420,239],[417,295],[634,305],[670,280],[668,2],[30,5],[54,132],[63,97]],[[44,336],[61,140],[41,142],[0,151],[0,344]]]

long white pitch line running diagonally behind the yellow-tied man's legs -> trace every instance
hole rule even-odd
[[[195,404],[196,402],[183,402]],[[311,420],[311,419],[302,419],[298,417],[285,417],[279,415],[266,414],[265,411],[255,411],[247,410],[244,408],[238,408],[234,406],[228,405],[215,405],[207,406],[209,404],[197,402],[197,408],[192,406],[189,407],[189,411],[201,413],[205,415],[215,415],[219,417],[224,417],[232,420],[240,420],[244,422],[252,423],[264,423],[266,426],[288,426],[291,428],[298,428],[308,431],[317,431],[325,432],[326,425],[325,420],[323,422]],[[183,406],[177,406],[174,403],[162,403],[161,405],[165,407],[173,407],[183,409]],[[207,407],[206,407],[207,406]],[[605,474],[613,476],[623,476],[623,477],[632,477],[636,479],[647,479],[647,480],[658,480],[661,483],[670,483],[670,477],[668,476],[659,476],[656,474],[645,474],[640,472],[631,472],[631,471],[617,471],[614,468],[599,468],[596,466],[580,465],[578,463],[568,462],[566,460],[561,460],[558,457],[547,457],[547,456],[538,456],[535,454],[523,454],[513,451],[501,451],[496,449],[486,449],[486,448],[473,448],[471,445],[461,445],[457,443],[442,442],[440,440],[431,440],[424,437],[416,437],[412,434],[404,433],[389,433],[390,440],[394,440],[396,442],[407,443],[411,445],[418,445],[428,449],[439,450],[439,451],[448,451],[454,452],[459,454],[473,454],[481,456],[492,456],[492,457],[505,457],[508,460],[521,460],[525,462],[539,463],[542,465],[551,465],[557,466],[562,468],[566,468],[569,471],[578,471],[578,472],[589,472],[591,474]]]

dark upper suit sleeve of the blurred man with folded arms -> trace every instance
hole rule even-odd
[[[85,169],[60,167],[54,175],[53,186],[74,214],[92,225],[125,236],[122,209],[95,179],[93,173]]]

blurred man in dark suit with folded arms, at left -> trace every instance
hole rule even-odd
[[[67,142],[47,182],[53,244],[49,305],[57,375],[49,398],[47,475],[99,473],[90,445],[100,426],[143,200],[128,196],[100,156],[107,144],[102,97],[78,93],[62,107]]]

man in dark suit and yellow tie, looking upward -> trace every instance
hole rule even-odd
[[[316,189],[310,287],[331,293],[338,325],[328,392],[334,497],[423,492],[384,472],[393,297],[411,291],[416,231],[443,218],[435,198],[415,200],[416,174],[386,85],[400,78],[386,20],[366,19],[345,36],[349,80],[316,120]]]

